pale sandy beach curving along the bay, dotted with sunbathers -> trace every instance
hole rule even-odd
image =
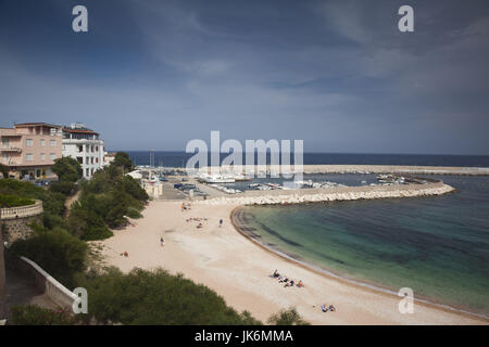
[[[323,275],[263,249],[241,235],[230,221],[237,205],[192,205],[181,211],[181,202],[150,202],[143,218],[114,231],[102,254],[108,266],[123,271],[135,267],[162,267],[184,273],[224,297],[235,309],[248,310],[266,322],[283,308],[296,307],[313,324],[488,324],[488,321],[438,307],[417,304],[414,313],[401,314],[400,297]],[[208,218],[187,221],[189,218]],[[224,220],[218,227],[220,219]],[[164,246],[160,244],[164,237]],[[127,252],[128,257],[121,256]],[[275,269],[304,287],[284,287],[269,275]],[[336,312],[322,312],[323,304]]]

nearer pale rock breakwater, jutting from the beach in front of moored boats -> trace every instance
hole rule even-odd
[[[427,184],[397,184],[376,187],[335,187],[325,189],[247,191],[230,197],[216,197],[197,202],[208,205],[275,205],[315,202],[354,201],[392,197],[442,195],[455,189],[443,182]]]

